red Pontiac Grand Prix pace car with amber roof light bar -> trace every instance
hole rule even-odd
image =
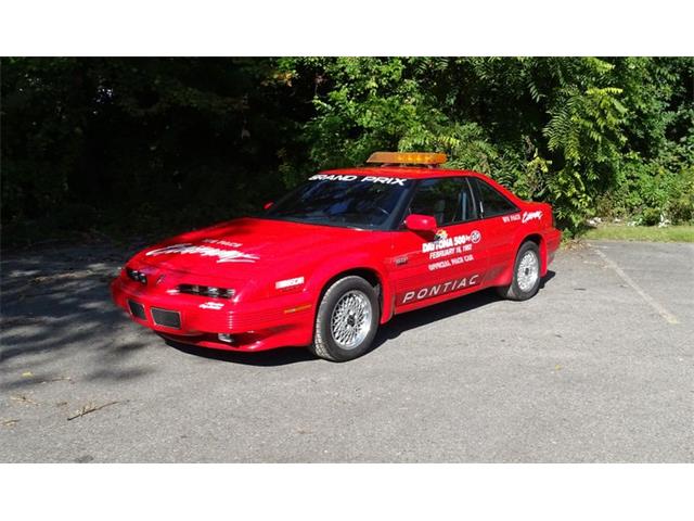
[[[444,154],[377,152],[322,171],[259,216],[175,237],[111,285],[136,322],[204,347],[369,350],[395,315],[494,287],[524,301],[558,247],[552,208]]]

